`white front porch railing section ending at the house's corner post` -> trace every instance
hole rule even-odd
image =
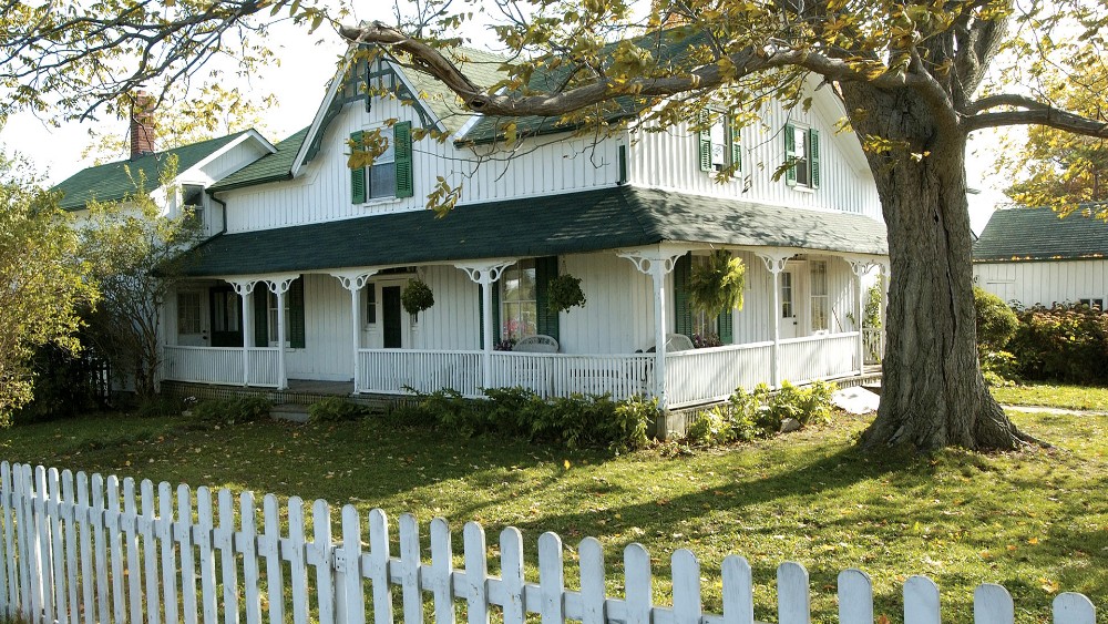
[[[492,354],[492,388],[522,386],[541,397],[612,395],[615,400],[647,396],[654,388],[654,356]]]

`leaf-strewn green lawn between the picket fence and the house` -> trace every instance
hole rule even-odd
[[[973,589],[983,582],[1013,593],[1017,622],[1049,621],[1059,591],[1085,593],[1104,608],[1108,417],[1014,418],[1056,448],[864,454],[853,448],[861,419],[678,457],[455,440],[379,420],[204,430],[181,418],[110,416],[18,427],[0,438],[11,461],[352,502],[391,518],[411,512],[424,525],[441,515],[459,531],[478,520],[490,545],[515,525],[532,565],[544,531],[568,545],[594,535],[617,595],[622,550],[640,542],[654,556],[663,603],[670,600],[668,556],[688,548],[700,557],[706,610],[715,613],[720,562],[739,553],[753,567],[761,621],[776,621],[772,587],[784,561],[808,567],[821,622],[837,620],[835,575],[850,566],[872,576],[876,613],[893,622],[902,620],[901,586],[913,574],[938,583],[948,622],[972,621]],[[533,566],[529,575],[535,580]],[[566,579],[575,585],[575,571]]]

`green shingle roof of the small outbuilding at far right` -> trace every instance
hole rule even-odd
[[[1108,257],[1108,223],[1083,211],[1059,218],[1049,208],[996,211],[973,246],[983,262]]]

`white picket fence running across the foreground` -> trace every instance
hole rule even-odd
[[[132,479],[90,479],[83,472],[74,479],[68,470],[59,474],[8,462],[0,464],[0,615],[29,622],[392,624],[399,616],[404,624],[427,617],[453,624],[459,603],[468,624],[489,624],[491,613],[504,624],[523,624],[529,614],[538,614],[543,624],[755,622],[750,565],[736,555],[722,562],[722,614],[712,615],[702,611],[700,564],[685,549],[673,553],[673,605],[663,606],[653,602],[650,556],[639,544],[624,551],[625,589],[622,597],[613,597],[606,593],[603,549],[593,538],[577,545],[579,591],[570,591],[566,549],[554,533],[538,538],[538,582],[532,583],[524,575],[523,536],[513,528],[500,534],[500,576],[490,576],[485,534],[473,522],[462,533],[463,565],[454,569],[451,532],[442,519],[431,521],[425,561],[420,528],[410,514],[399,518],[394,555],[380,510],[363,518],[352,505],[343,507],[339,534],[332,535],[331,509],[321,500],[306,518],[300,499],[289,499],[281,509],[267,494],[259,529],[250,492],[236,501],[220,490],[213,507],[207,488],[197,488],[194,497],[186,485],[174,492],[168,483],[155,489],[143,481],[136,495]],[[808,572],[801,565],[778,569],[777,592],[781,624],[810,621]],[[838,599],[840,622],[873,624],[865,573],[842,572]],[[938,624],[938,604],[930,580],[913,576],[904,584],[905,623]],[[1013,620],[1004,587],[976,590],[975,623]],[[1096,612],[1087,597],[1060,594],[1054,622],[1095,624]]]

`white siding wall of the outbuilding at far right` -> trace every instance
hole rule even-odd
[[[974,282],[1024,307],[1108,299],[1108,260],[975,263]]]

